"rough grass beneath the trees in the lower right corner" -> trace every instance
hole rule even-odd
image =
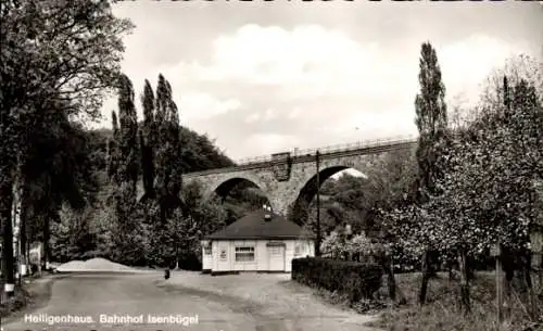
[[[543,330],[543,326],[530,326],[526,305],[518,295],[513,295],[510,303],[510,319],[497,328],[495,307],[495,282],[492,272],[479,272],[472,281],[471,314],[464,315],[459,307],[459,285],[455,280],[449,280],[445,275],[439,275],[429,284],[428,303],[419,307],[417,304],[420,273],[397,275],[396,281],[404,292],[407,304],[394,309],[384,309],[380,318],[368,324],[389,331],[495,331],[495,330]],[[384,295],[381,289],[379,295]]]

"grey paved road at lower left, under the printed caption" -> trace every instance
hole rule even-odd
[[[279,311],[273,313],[273,307],[265,307],[250,297],[164,283],[162,273],[78,275],[59,279],[53,283],[47,306],[3,324],[3,331],[369,330],[359,323],[345,323],[345,316],[337,311],[327,316],[307,311],[304,316],[296,314],[289,317]],[[64,321],[47,323],[47,319],[54,318],[63,318]],[[152,319],[155,319],[154,323]]]

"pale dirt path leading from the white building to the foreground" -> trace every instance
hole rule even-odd
[[[159,287],[220,302],[251,316],[257,331],[375,330],[375,319],[324,303],[313,291],[290,280],[290,275],[245,273],[211,277],[198,272],[175,273]]]

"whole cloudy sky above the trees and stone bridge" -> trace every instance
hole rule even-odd
[[[181,125],[239,160],[416,133],[420,43],[450,102],[477,100],[505,59],[543,52],[536,3],[125,1],[125,73],[169,80]],[[109,126],[116,101],[104,105]]]

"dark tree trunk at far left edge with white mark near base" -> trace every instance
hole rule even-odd
[[[3,169],[2,169],[3,171]],[[0,174],[8,176],[9,174]],[[5,281],[4,290],[8,296],[13,296],[12,287],[15,284],[13,258],[13,226],[11,219],[13,204],[13,182],[5,178],[0,179],[0,221],[2,225],[2,275]]]

